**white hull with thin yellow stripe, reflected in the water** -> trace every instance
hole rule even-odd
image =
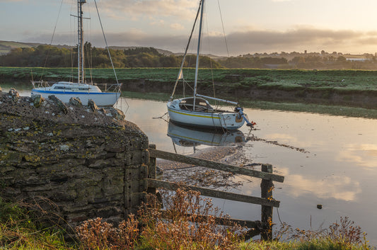
[[[239,118],[238,113],[204,113],[191,110],[174,108],[168,103],[169,118],[173,123],[191,127],[204,127],[211,129],[236,130],[242,127],[245,120]]]

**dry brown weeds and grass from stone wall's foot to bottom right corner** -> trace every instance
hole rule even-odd
[[[348,217],[328,229],[302,230],[283,224],[274,241],[243,242],[245,228],[229,222],[209,199],[195,191],[178,189],[163,193],[165,208],[156,196],[141,206],[137,218],[112,227],[100,218],[77,227],[83,249],[373,249],[366,233]],[[226,226],[216,225],[216,217]]]

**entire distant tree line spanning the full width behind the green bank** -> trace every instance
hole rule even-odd
[[[93,47],[90,42],[83,46],[86,67],[116,68],[180,67],[182,55],[163,55],[153,47],[136,47],[128,50],[105,50]],[[292,54],[292,53],[291,53]],[[366,60],[348,60],[336,52],[320,55],[239,55],[223,59],[199,57],[202,68],[255,68],[255,69],[377,69],[375,56]],[[0,56],[0,67],[77,67],[77,48],[39,45],[11,50]],[[196,55],[187,55],[185,67],[195,67]]]

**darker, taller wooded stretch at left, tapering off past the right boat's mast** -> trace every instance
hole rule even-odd
[[[93,47],[90,42],[83,46],[86,67],[116,68],[180,67],[182,56],[163,55],[153,47],[137,47],[129,50],[105,50]],[[77,67],[77,48],[58,48],[52,45],[15,48],[0,56],[1,67]],[[196,55],[187,55],[185,67],[195,67]],[[204,68],[221,68],[213,59],[200,56],[199,65]]]

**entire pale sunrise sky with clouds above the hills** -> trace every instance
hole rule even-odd
[[[105,47],[95,2],[87,1],[85,40]],[[76,18],[71,16],[77,14],[76,3],[0,0],[0,40],[76,45]],[[199,0],[96,0],[96,4],[109,46],[183,52]],[[376,10],[375,0],[206,0],[202,53],[374,54]]]

